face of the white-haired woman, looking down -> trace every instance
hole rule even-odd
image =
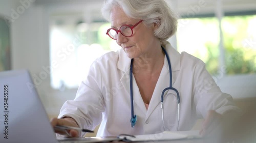
[[[140,20],[141,19],[128,17],[118,6],[112,9],[111,25],[112,28],[115,28],[116,30],[119,30],[119,28],[124,24],[133,26]],[[152,49],[156,49],[156,46],[160,46],[158,38],[153,34],[154,28],[156,27],[156,24],[152,24],[152,26],[147,27],[142,21],[133,28],[132,37],[125,37],[119,32],[116,42],[123,48],[127,56],[131,59],[140,58],[146,54],[154,54],[154,50]]]

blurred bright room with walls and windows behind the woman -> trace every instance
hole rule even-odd
[[[168,41],[205,62],[223,92],[256,103],[256,1],[166,0],[179,17]],[[120,47],[103,0],[0,0],[0,71],[28,69],[49,117],[74,99],[91,63]],[[1,80],[1,79],[0,79]]]

